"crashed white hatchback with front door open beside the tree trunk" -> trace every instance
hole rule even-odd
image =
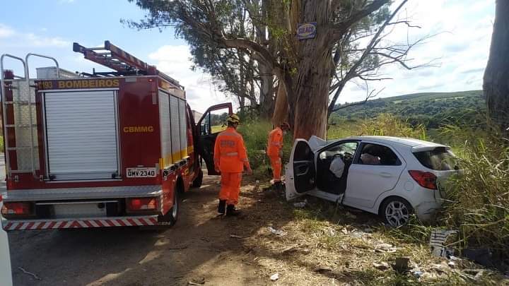
[[[460,172],[445,145],[387,136],[298,139],[286,166],[286,199],[308,194],[375,213],[389,225],[430,220],[440,182]]]

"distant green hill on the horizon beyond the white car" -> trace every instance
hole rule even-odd
[[[423,124],[433,129],[445,123],[477,124],[484,120],[485,112],[486,101],[482,90],[414,93],[378,98],[363,105],[340,109],[332,114],[331,121],[356,121],[391,113],[411,124]]]

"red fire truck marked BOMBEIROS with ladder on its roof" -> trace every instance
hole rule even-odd
[[[119,47],[74,52],[112,71],[73,74],[40,54],[0,59],[4,230],[174,225],[179,196],[213,168],[213,113],[195,124],[185,89]],[[29,59],[55,62],[30,79]],[[24,76],[4,68],[21,61]],[[39,73],[39,71],[37,71]]]

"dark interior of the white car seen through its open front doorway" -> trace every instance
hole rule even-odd
[[[358,142],[350,141],[333,145],[318,154],[317,159],[317,188],[327,193],[340,194],[346,191],[346,177],[349,167],[353,162]],[[341,177],[330,171],[334,159],[341,159],[344,162],[344,171]]]

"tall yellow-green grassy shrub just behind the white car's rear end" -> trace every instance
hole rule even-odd
[[[509,256],[508,140],[497,132],[460,126],[445,126],[441,133],[462,143],[455,149],[464,169],[447,184],[443,224],[461,230],[464,247]]]

